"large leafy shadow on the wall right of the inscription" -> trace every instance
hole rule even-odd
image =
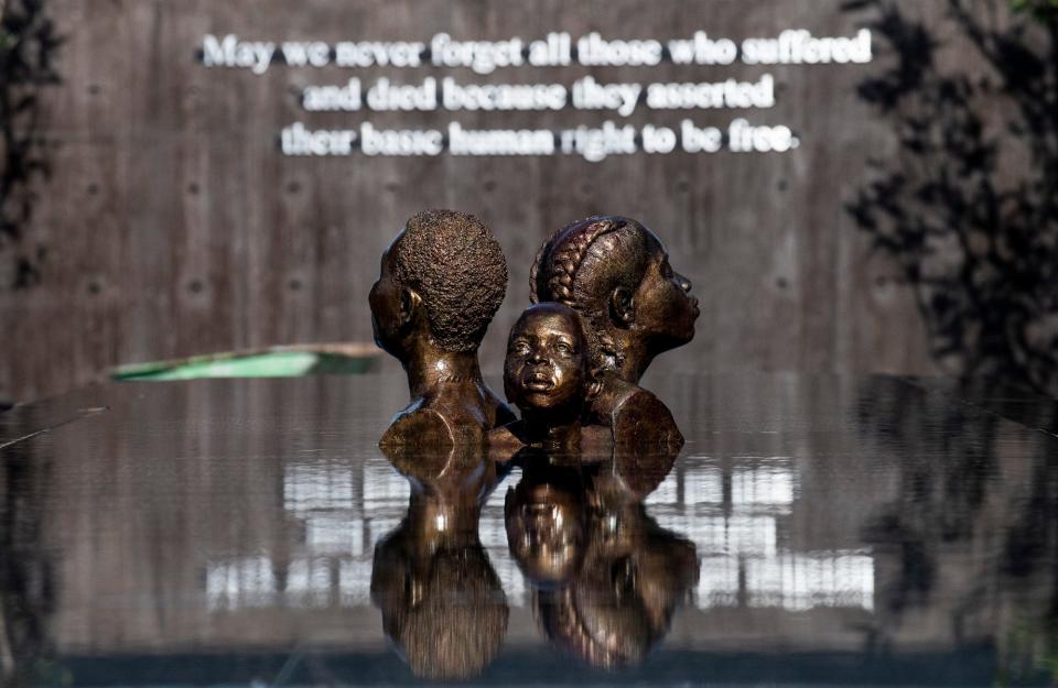
[[[942,69],[949,36],[894,0],[843,6],[890,48],[859,92],[900,138],[848,210],[902,265],[941,364],[1058,395],[1058,0],[946,2],[985,70]]]

